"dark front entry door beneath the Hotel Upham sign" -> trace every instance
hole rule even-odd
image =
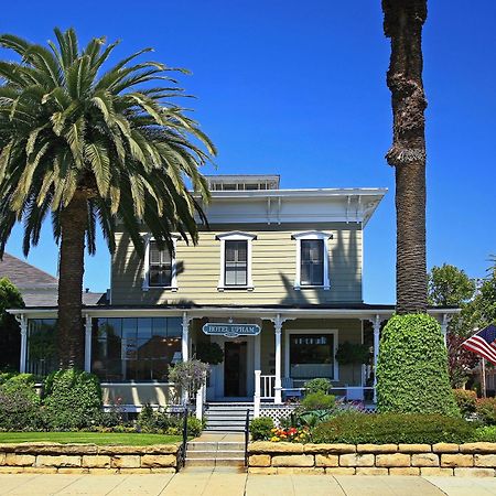
[[[226,341],[224,346],[224,396],[246,397],[247,342]]]

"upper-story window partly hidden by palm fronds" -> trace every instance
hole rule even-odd
[[[174,251],[175,241],[176,238],[173,239]],[[175,259],[171,251],[168,248],[160,249],[159,244],[153,238],[149,238],[144,255],[143,289],[162,288],[176,291],[175,272]]]

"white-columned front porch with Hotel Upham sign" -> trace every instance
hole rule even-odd
[[[35,334],[32,331],[33,323],[56,319],[56,309],[22,309],[12,313],[17,315],[21,324],[20,369],[35,371],[33,370],[35,360],[30,354],[30,336]],[[370,391],[369,399],[375,400],[374,371],[377,364],[380,328],[393,313],[393,308],[388,305],[302,309],[106,306],[85,308],[83,313],[86,324],[85,369],[100,375],[105,384],[107,402],[121,398],[122,403],[129,408],[139,408],[147,402],[165,406],[176,400],[173,385],[163,378],[157,376],[153,378],[152,375],[161,374],[173,360],[194,356],[198,343],[217,343],[224,353],[223,363],[212,367],[212,376],[204,395],[208,401],[254,401],[255,399],[257,403],[257,398],[260,398],[260,401],[281,405],[287,389],[300,388],[305,380],[313,377],[327,377],[336,392],[342,396],[363,399],[367,391]],[[455,310],[431,309],[429,313],[440,321],[445,334],[449,317],[455,313]],[[153,319],[162,320],[161,323],[165,322],[164,319],[169,319],[168,331],[159,331],[155,336],[153,334],[155,321],[151,321]],[[255,336],[207,336],[202,332],[203,325],[207,322],[256,323],[261,332]],[[100,324],[107,326],[107,341],[96,338],[103,328]],[[148,341],[141,344],[142,349],[147,346],[151,348],[153,339],[160,341],[159,337],[166,342],[169,348],[174,349],[173,353],[169,353],[164,347],[159,346],[157,349],[159,353],[163,352],[163,359],[150,356],[151,352],[142,355],[142,362],[145,363],[143,370],[150,374],[150,377],[147,377],[148,380],[141,378],[143,375],[140,376],[142,371],[139,368],[139,360],[130,358],[132,353],[139,355],[137,347],[140,343],[132,348],[130,345],[132,339],[128,331],[132,325],[137,325],[134,335],[139,338],[142,331],[141,324],[148,325],[147,328],[151,330]],[[111,331],[112,339],[115,339],[114,348],[108,345],[109,325],[114,326]],[[339,365],[335,360],[335,352],[345,341],[369,345],[373,351],[370,363],[364,366]],[[97,355],[104,342],[107,346],[106,353],[114,349],[112,353],[117,355],[112,358],[115,363],[111,363],[109,358],[108,362],[99,360],[98,365]],[[299,347],[301,349],[296,349]],[[319,359],[309,362],[312,349],[317,351]],[[43,362],[43,358],[40,360]],[[45,364],[46,362],[44,359]],[[134,368],[130,364],[133,364]],[[149,364],[153,365],[149,366]],[[158,368],[153,368],[155,365]],[[110,366],[114,367],[112,374],[108,370]],[[256,379],[256,371],[257,377],[260,377],[259,380]],[[130,378],[132,374],[134,374],[133,379]]]

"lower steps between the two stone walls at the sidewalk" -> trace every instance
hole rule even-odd
[[[190,441],[186,446],[186,467],[245,466],[245,443],[233,441]]]

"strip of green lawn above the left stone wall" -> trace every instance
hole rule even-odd
[[[0,443],[47,441],[54,443],[91,443],[145,446],[180,442],[179,435],[101,433],[101,432],[0,432]]]

